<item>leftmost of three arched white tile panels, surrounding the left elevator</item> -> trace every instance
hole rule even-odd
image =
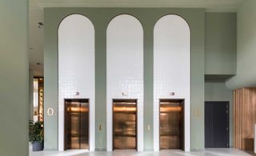
[[[89,145],[94,150],[94,72],[94,25],[81,14],[71,14],[58,28],[58,150],[64,150],[64,99],[89,99]]]

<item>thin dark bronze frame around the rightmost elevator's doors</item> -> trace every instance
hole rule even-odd
[[[158,126],[158,128],[159,128],[159,150],[163,150],[163,149],[161,149],[161,146],[160,146],[160,137],[161,137],[161,135],[160,135],[160,114],[161,114],[161,110],[160,110],[160,108],[161,108],[161,100],[166,100],[166,101],[180,101],[180,103],[181,103],[181,106],[182,106],[182,128],[183,128],[183,139],[182,139],[182,147],[181,147],[181,149],[180,150],[184,150],[185,149],[185,111],[184,111],[184,104],[185,104],[185,99],[159,99],[159,111],[158,111],[158,116],[159,116],[159,126]],[[170,149],[171,150],[171,149]],[[175,149],[174,149],[175,150]]]

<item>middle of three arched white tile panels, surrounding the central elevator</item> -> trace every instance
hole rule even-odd
[[[107,150],[113,145],[112,99],[138,99],[138,150],[143,150],[143,29],[133,16],[119,15],[107,27],[106,76]]]

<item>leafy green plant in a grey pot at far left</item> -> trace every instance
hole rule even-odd
[[[30,120],[30,142],[33,145],[33,151],[43,150],[43,122],[34,122]]]

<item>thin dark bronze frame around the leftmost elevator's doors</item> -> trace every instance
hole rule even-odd
[[[72,149],[67,149],[66,148],[66,101],[77,101],[77,102],[84,102],[84,101],[88,101],[88,109],[89,109],[89,115],[88,115],[88,150],[90,150],[90,99],[64,99],[64,142],[63,142],[63,146],[64,146],[64,150],[72,150]],[[81,105],[81,104],[80,104]],[[80,112],[81,114],[81,112]],[[79,124],[81,124],[79,122]],[[81,142],[81,140],[80,140]],[[86,149],[80,149],[80,150],[86,150]]]

